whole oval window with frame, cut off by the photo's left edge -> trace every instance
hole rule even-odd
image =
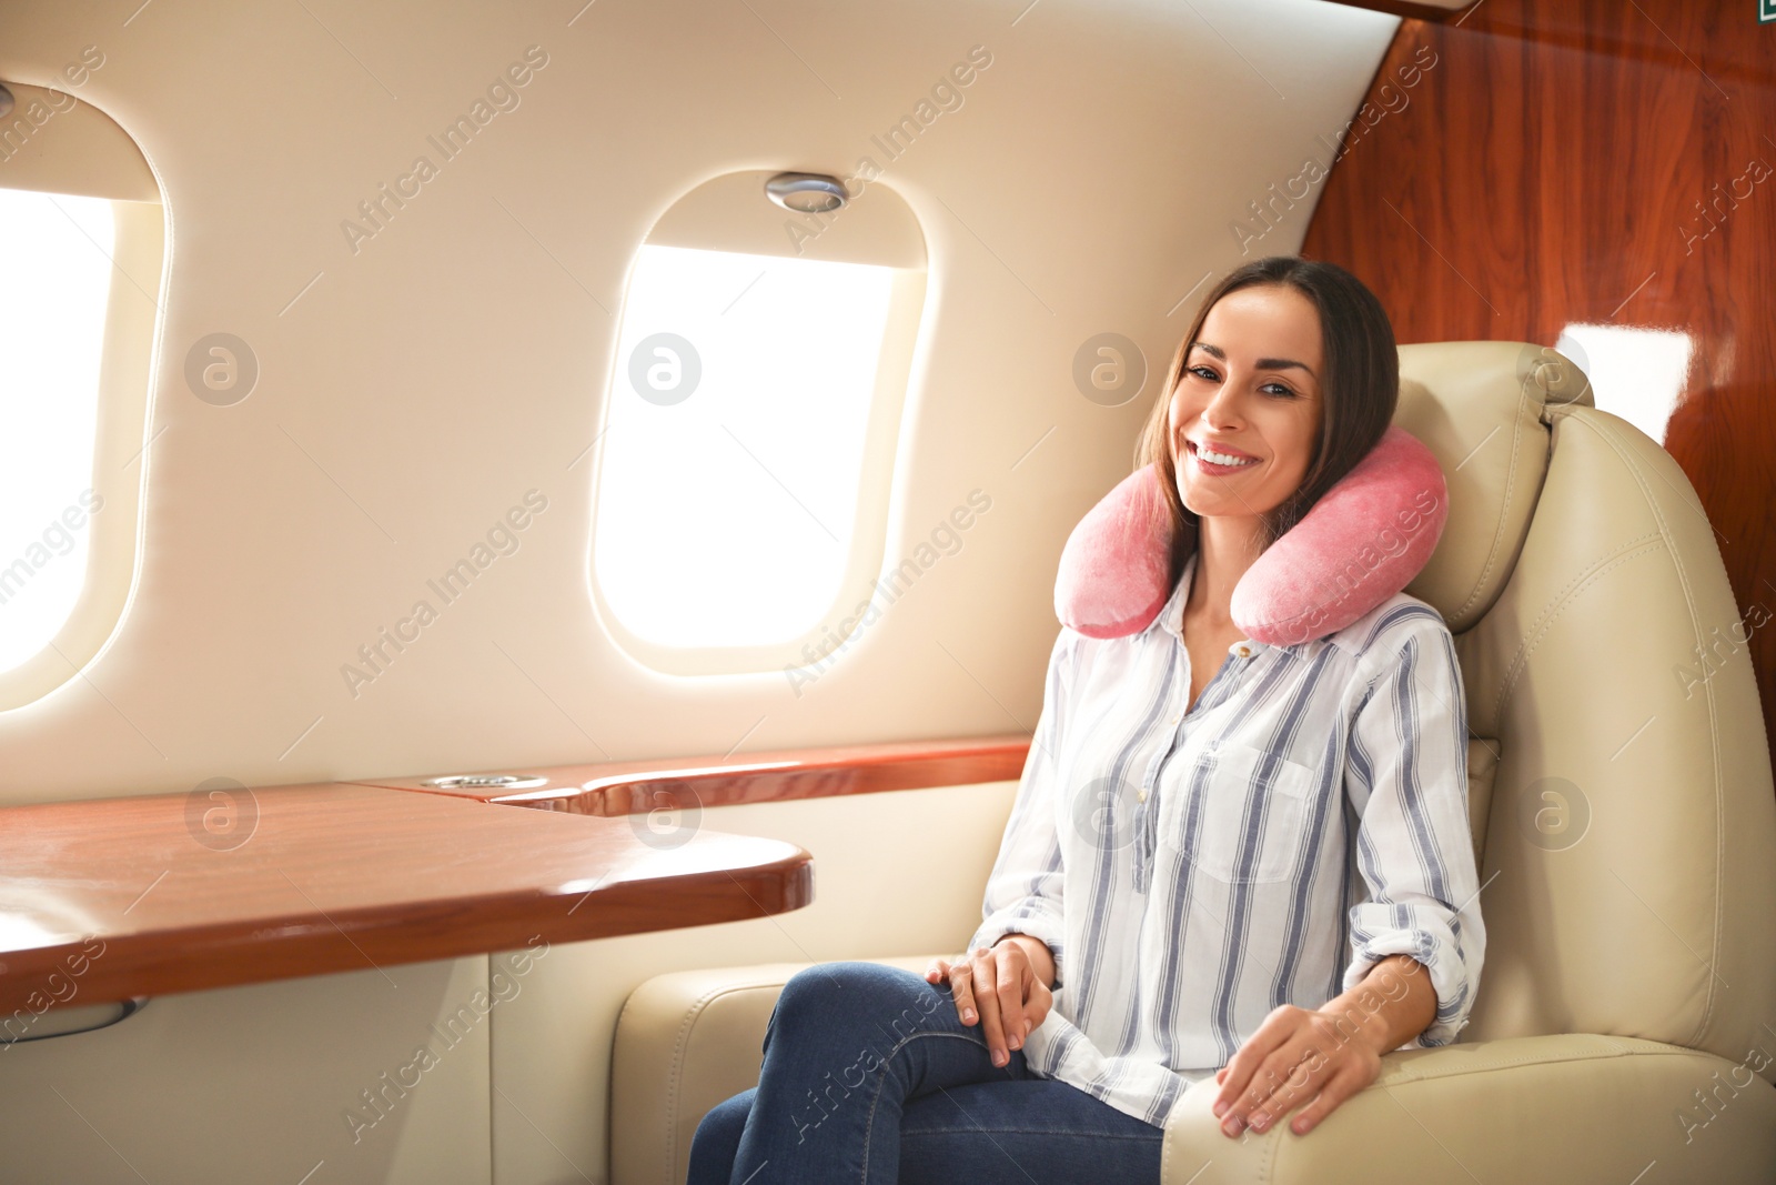
[[[80,96],[105,62],[87,46],[69,91],[0,85],[0,712],[99,654],[140,554],[167,211]]]

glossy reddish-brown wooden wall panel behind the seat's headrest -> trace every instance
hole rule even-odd
[[[1756,0],[1483,0],[1403,21],[1368,105],[1302,254],[1362,277],[1401,343],[1687,332],[1664,446],[1746,627],[1769,620],[1776,23]],[[1776,627],[1748,645],[1776,736]]]

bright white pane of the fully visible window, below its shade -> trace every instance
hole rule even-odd
[[[643,245],[602,439],[593,569],[664,647],[815,627],[838,595],[895,268]]]

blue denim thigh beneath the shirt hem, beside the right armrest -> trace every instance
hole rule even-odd
[[[1163,1142],[1069,1082],[957,1086],[906,1105],[899,1185],[1160,1185]]]

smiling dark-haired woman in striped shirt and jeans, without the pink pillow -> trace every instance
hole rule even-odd
[[[691,1185],[1156,1183],[1195,1080],[1229,1137],[1291,1112],[1302,1135],[1387,1050],[1455,1038],[1485,929],[1447,627],[1405,593],[1293,647],[1229,616],[1398,386],[1336,265],[1259,259],[1204,300],[1137,451],[1176,588],[1133,636],[1060,631],[970,954],[792,977]]]

